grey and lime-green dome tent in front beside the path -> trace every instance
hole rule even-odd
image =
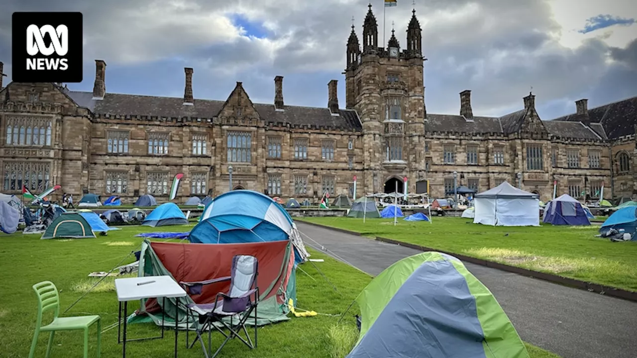
[[[406,257],[356,301],[361,334],[347,358],[529,358],[489,289],[451,255]]]

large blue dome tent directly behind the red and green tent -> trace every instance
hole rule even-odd
[[[296,262],[309,256],[290,215],[273,199],[252,190],[233,190],[206,205],[190,231],[192,243],[292,240]]]

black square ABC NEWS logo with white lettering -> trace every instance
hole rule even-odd
[[[13,13],[13,81],[82,82],[82,13]]]

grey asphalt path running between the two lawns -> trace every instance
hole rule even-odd
[[[413,248],[296,222],[306,246],[375,276]],[[522,340],[563,358],[636,358],[637,303],[464,262]]]

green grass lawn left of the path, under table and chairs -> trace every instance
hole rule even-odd
[[[34,322],[37,313],[36,296],[31,286],[43,280],[50,280],[60,291],[61,311],[75,302],[97,278],[88,278],[92,271],[108,271],[133,250],[137,250],[142,239],[134,235],[151,231],[189,231],[189,226],[168,227],[123,227],[111,231],[108,236],[80,240],[39,240],[39,235],[0,234],[0,262],[3,275],[0,276],[0,356],[26,357],[31,346]],[[338,352],[349,352],[356,334],[339,338],[338,331],[355,330],[354,305],[348,311],[341,325],[336,327],[339,315],[347,309],[355,296],[368,284],[371,277],[335,261],[318,252],[311,252],[316,266],[327,276],[338,290],[326,282],[321,273],[312,265],[301,266],[297,271],[297,298],[299,308],[315,310],[315,317],[292,317],[287,322],[259,328],[259,347],[249,350],[240,341],[228,343],[220,357],[334,357],[342,358]],[[134,261],[130,256],[123,263]],[[94,315],[102,317],[102,326],[117,322],[117,297],[112,280],[104,280],[94,292],[85,296],[66,315]],[[137,303],[129,303],[129,308],[138,308]],[[129,310],[130,311],[130,310]],[[92,329],[90,352],[94,352],[96,329]],[[153,324],[132,324],[129,337],[154,336],[159,328]],[[173,350],[173,334],[166,339],[127,344],[131,357],[169,357]],[[354,340],[352,340],[352,337]],[[36,356],[43,357],[48,334],[41,334]],[[183,347],[185,334],[180,333],[180,357],[202,357],[200,346],[190,350]],[[213,347],[220,344],[219,334],[213,334]],[[529,347],[533,358],[557,357],[553,354]],[[120,357],[121,345],[117,344],[117,327],[102,335],[102,357]],[[59,332],[55,334],[52,357],[81,357],[82,332]],[[94,356],[94,353],[90,353]]]

